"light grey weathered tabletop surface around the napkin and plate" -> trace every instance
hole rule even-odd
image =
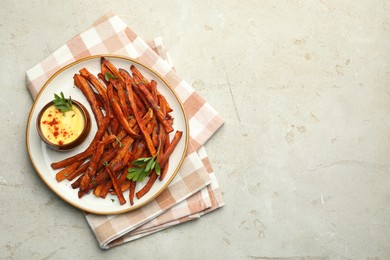
[[[390,1],[0,4],[0,259],[390,259]],[[25,71],[113,12],[220,112],[226,206],[101,250],[26,152]]]

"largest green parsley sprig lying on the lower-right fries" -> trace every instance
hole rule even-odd
[[[160,164],[157,161],[158,153],[160,152],[161,140],[159,140],[157,153],[152,157],[138,158],[134,160],[131,164],[135,167],[129,168],[127,170],[127,179],[131,181],[142,182],[146,176],[154,170],[157,175],[161,173]]]

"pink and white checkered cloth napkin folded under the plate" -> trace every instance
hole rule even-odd
[[[224,205],[203,144],[222,126],[217,112],[175,72],[161,38],[145,42],[118,16],[108,14],[27,71],[33,98],[58,69],[96,54],[120,54],[153,68],[175,90],[189,119],[186,158],[172,183],[154,201],[119,215],[84,213],[103,249],[200,218]]]

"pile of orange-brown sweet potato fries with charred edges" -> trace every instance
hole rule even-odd
[[[51,167],[61,169],[57,181],[73,182],[79,198],[89,193],[101,198],[114,194],[121,205],[127,201],[133,205],[135,197],[142,198],[164,178],[183,132],[173,129],[172,109],[156,81],[145,78],[134,65],[118,69],[104,57],[100,64],[96,76],[83,68],[73,77],[95,116],[95,136],[84,151]]]

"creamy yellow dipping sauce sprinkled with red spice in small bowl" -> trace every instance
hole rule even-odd
[[[40,127],[43,136],[51,143],[65,145],[76,140],[83,132],[85,119],[77,106],[62,113],[54,105],[42,114]]]

